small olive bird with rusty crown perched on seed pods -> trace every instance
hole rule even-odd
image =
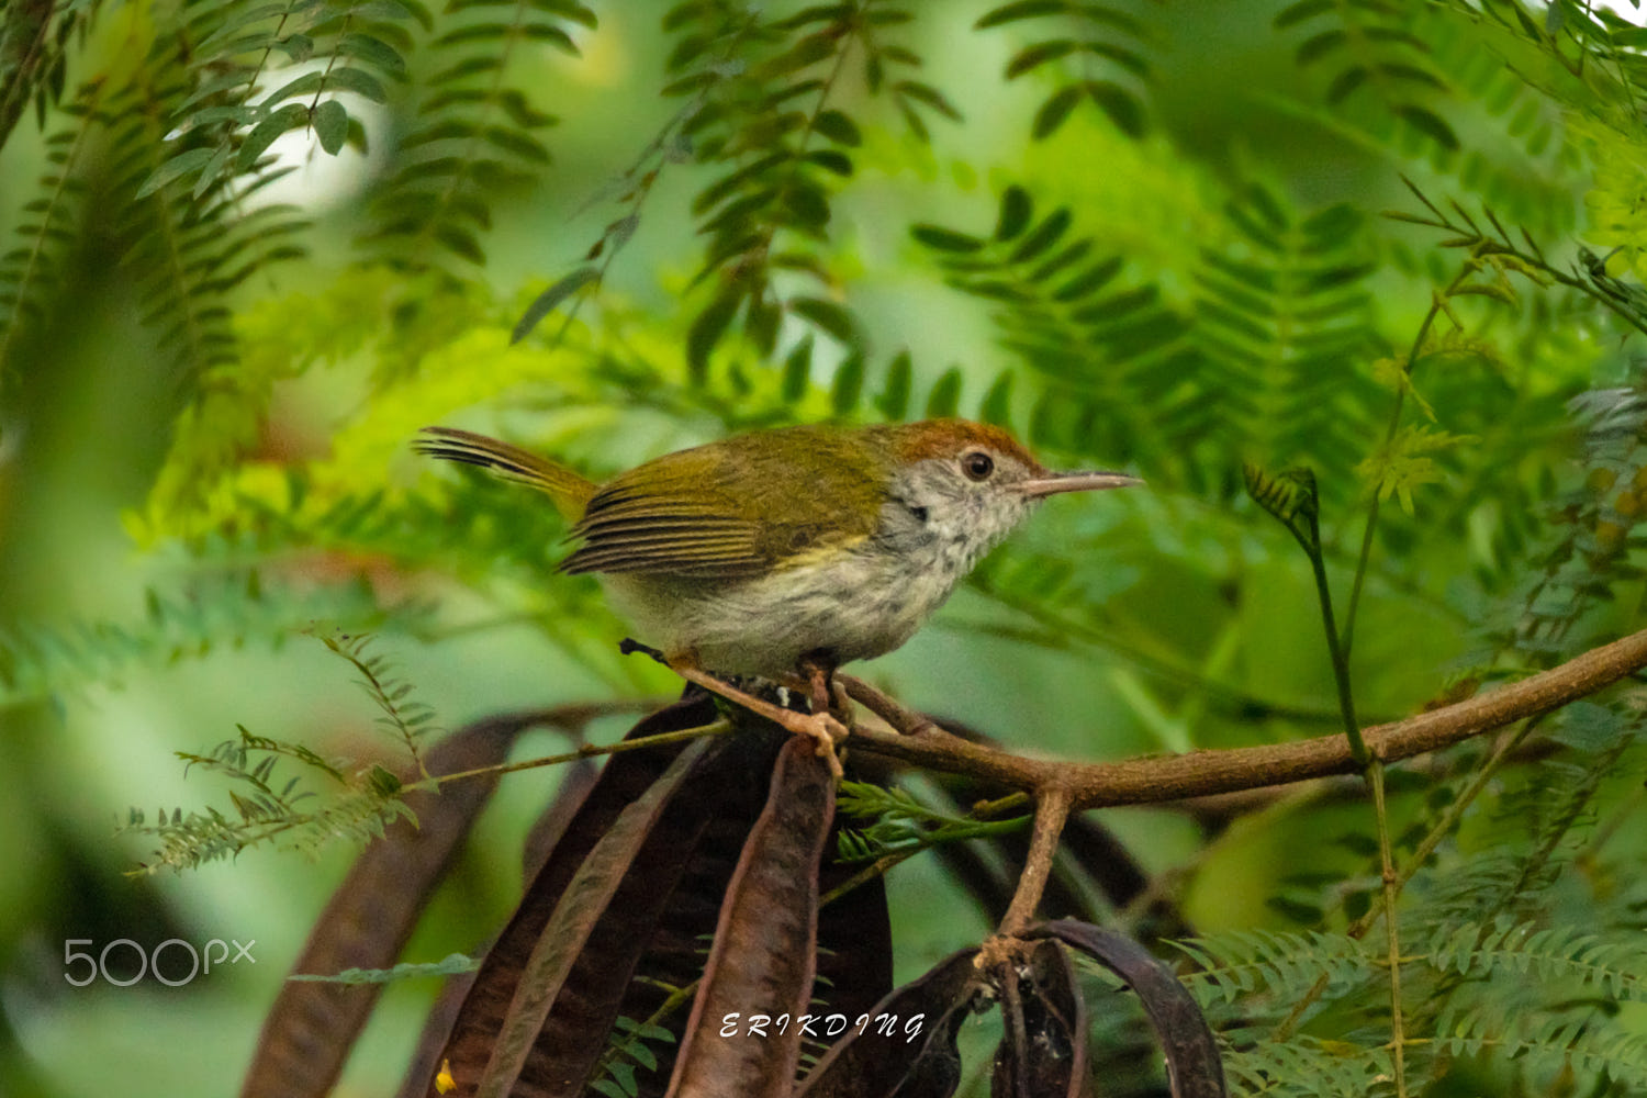
[[[596,573],[682,677],[820,741],[843,734],[827,711],[794,713],[726,678],[799,673],[819,710],[820,677],[909,640],[1039,500],[1141,484],[1052,472],[1006,430],[960,418],[751,431],[604,484],[448,426],[413,446],[548,495],[580,542],[562,573]]]

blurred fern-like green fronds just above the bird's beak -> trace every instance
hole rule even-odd
[[[1031,438],[1072,449],[1115,440],[1189,482],[1206,472],[1197,453],[1232,449],[1344,474],[1383,403],[1352,369],[1382,346],[1362,219],[1346,206],[1299,217],[1260,184],[1224,216],[1232,237],[1201,252],[1184,306],[1159,283],[1127,285],[1123,257],[1075,235],[1069,209],[1036,217],[1019,186],[1003,193],[988,239],[926,224],[912,234],[949,285],[991,303],[1001,346],[1046,379]]]

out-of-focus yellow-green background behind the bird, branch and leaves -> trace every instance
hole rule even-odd
[[[8,0],[13,31],[23,7]],[[1621,194],[1639,196],[1640,161],[1631,156],[1642,156],[1647,142],[1621,137],[1619,127],[1639,122],[1606,109],[1601,77],[1563,82],[1566,69],[1551,58],[1578,46],[1555,20],[1538,23],[1555,26],[1555,46],[1545,49],[1530,31],[1517,41],[1510,21],[1472,23],[1463,7],[1393,5],[1392,18],[1418,43],[1398,43],[1413,58],[1369,63],[1372,84],[1332,99],[1349,48],[1332,56],[1323,46],[1324,59],[1301,54],[1321,25],[1309,12],[1283,16],[1283,5],[1117,5],[1117,18],[1097,30],[1056,15],[1072,36],[1122,41],[1146,58],[1146,72],[1074,51],[1006,79],[1008,64],[1051,33],[1047,23],[978,28],[993,5],[909,3],[912,21],[881,33],[919,53],[919,79],[940,89],[962,120],[927,112],[931,137],[921,140],[884,89],[875,95],[856,76],[858,59],[832,92],[856,120],[861,145],[850,150],[853,176],[828,191],[827,232],[807,244],[830,272],[824,290],[807,293],[850,309],[851,339],[791,314],[772,356],[726,334],[705,380],[684,361],[716,286],[716,277],[693,281],[705,235],[692,202],[728,163],[695,163],[707,160],[702,142],[674,160],[644,160],[687,102],[660,94],[684,35],[664,30],[665,5],[593,7],[598,28],[565,23],[578,56],[552,41],[517,43],[502,69],[509,87],[558,123],[540,133],[550,163],[488,193],[483,263],[455,260],[425,239],[425,255],[390,247],[389,262],[362,265],[361,237],[390,221],[374,202],[397,186],[407,163],[397,160],[397,140],[415,132],[438,61],[435,33],[417,20],[405,20],[408,79],[390,84],[385,104],[348,100],[369,151],[331,156],[301,127],[277,140],[275,166],[293,171],[236,196],[232,216],[277,201],[296,206],[306,226],[282,239],[303,254],[260,258],[234,285],[178,283],[193,285],[196,305],[224,309],[201,323],[232,331],[227,365],[196,354],[189,333],[173,326],[173,316],[201,318],[160,300],[150,278],[160,262],[155,230],[127,224],[127,204],[140,211],[155,201],[122,189],[127,147],[110,135],[128,104],[104,104],[114,112],[109,130],[91,138],[100,148],[72,161],[72,173],[53,160],[69,148],[58,135],[76,132],[61,105],[48,110],[44,128],[26,110],[0,148],[3,247],[30,239],[31,204],[53,191],[48,179],[77,179],[82,201],[79,221],[46,250],[46,290],[16,291],[8,278],[0,344],[0,759],[10,777],[0,848],[15,854],[0,879],[0,1091],[82,1098],[119,1088],[142,1098],[237,1086],[262,1012],[354,848],[338,843],[313,858],[259,848],[196,871],[133,876],[152,844],[114,830],[130,805],[153,813],[224,803],[222,784],[198,770],[186,777],[173,752],[208,752],[237,724],[324,756],[394,757],[348,665],[305,629],[379,630],[377,650],[446,728],[517,706],[677,690],[659,668],[616,655],[623,627],[586,578],[550,576],[558,530],[532,510],[537,500],[428,468],[405,448],[417,426],[502,433],[601,474],[763,416],[873,418],[868,395],[883,392],[899,351],[909,352],[911,418],[947,370],[957,370],[959,408],[968,415],[1016,370],[1006,420],[1049,463],[1128,468],[1151,489],[1049,504],[929,629],[866,673],[911,705],[1034,752],[1107,759],[1283,741],[1334,731],[1331,665],[1308,566],[1286,532],[1242,495],[1240,461],[1321,472],[1323,533],[1342,598],[1367,500],[1380,489],[1380,468],[1357,464],[1379,453],[1395,400],[1379,362],[1407,354],[1433,291],[1463,258],[1443,250],[1446,234],[1379,217],[1423,212],[1402,176],[1436,201],[1458,196],[1477,216],[1484,206],[1500,211],[1563,268],[1581,247],[1619,249],[1607,270],[1621,275],[1635,257],[1634,226],[1607,211]],[[53,28],[74,26],[59,43],[63,104],[77,102],[87,81],[112,86],[145,66],[160,71],[155,58],[168,36],[206,18],[201,5],[46,8]],[[800,5],[751,10],[777,25],[777,8]],[[1436,79],[1380,99],[1375,86],[1400,79],[1379,76],[1380,64],[1423,66]],[[1123,110],[1082,104],[1044,140],[1031,137],[1049,95],[1095,71],[1141,112],[1140,133],[1118,123]],[[1400,115],[1403,105],[1423,114]],[[1431,110],[1444,117],[1454,148],[1426,128]],[[158,148],[175,122],[148,125]],[[656,184],[647,181],[637,229],[598,295],[578,306],[565,346],[555,344],[563,306],[511,347],[509,326],[532,296],[578,268],[626,214],[623,193],[637,176],[624,173],[637,163],[657,168]],[[176,201],[188,198],[188,183],[171,188]],[[1064,349],[1087,356],[1090,369],[1038,374],[1039,352],[1015,347],[1011,324],[1000,319],[1011,301],[945,285],[965,273],[911,234],[932,224],[985,239],[1011,186],[1033,194],[1036,217],[1072,211],[1069,239],[1095,240],[1095,257],[1123,258],[1117,286],[1150,288],[1179,324],[1173,346],[1191,357],[1150,359],[1155,349],[1130,347],[1120,334],[1075,328]],[[1301,362],[1309,349],[1270,329],[1255,342],[1278,347],[1273,359],[1230,352],[1217,339],[1209,257],[1268,262],[1250,229],[1253,216],[1262,222],[1275,209],[1283,250],[1308,260],[1298,249],[1309,219],[1336,206],[1354,227],[1324,249],[1349,272],[1354,300],[1329,305],[1332,324],[1351,336],[1318,361]],[[15,273],[21,260],[8,262]],[[458,277],[445,278],[453,270]],[[1288,272],[1276,277],[1285,281]],[[1481,281],[1491,280],[1489,270]],[[804,285],[794,272],[772,280],[779,298]],[[33,308],[18,306],[16,293]],[[1458,328],[1438,324],[1453,342],[1431,347],[1436,361],[1418,380],[1433,430],[1448,441],[1433,466],[1413,472],[1411,505],[1392,494],[1380,519],[1354,657],[1369,723],[1416,710],[1505,650],[1502,629],[1537,575],[1533,547],[1553,528],[1545,517],[1561,492],[1584,482],[1575,464],[1581,425],[1565,402],[1635,377],[1634,329],[1591,298],[1527,280],[1505,296],[1456,300]],[[1196,328],[1209,318],[1211,328]],[[1092,342],[1082,344],[1080,333]],[[804,339],[814,341],[807,387],[781,393],[782,359]],[[1136,359],[1131,374],[1108,369],[1125,356]],[[1232,362],[1247,374],[1232,380]],[[257,410],[249,430],[222,428],[227,441],[212,451],[216,443],[201,440],[222,408],[204,393],[234,369],[255,375],[245,390],[259,398],[245,405]],[[843,369],[865,372],[858,405],[843,407]],[[1299,392],[1304,375],[1321,395]],[[1141,397],[1150,392],[1155,403]],[[1031,426],[1049,402],[1077,400],[1097,408],[1079,428]],[[1321,405],[1318,418],[1290,431],[1299,405]],[[1173,420],[1168,407],[1187,412]],[[1408,402],[1408,423],[1416,407]],[[204,428],[178,426],[189,410]],[[305,500],[295,495],[298,481]],[[328,505],[395,520],[344,530],[318,517]],[[461,519],[445,528],[446,514]],[[1622,519],[1621,509],[1607,520]],[[405,540],[407,528],[425,535]],[[1624,543],[1626,556],[1634,545]],[[496,547],[507,548],[506,560]],[[259,589],[249,593],[254,570]],[[1038,576],[1046,578],[1041,593]],[[1616,584],[1611,601],[1586,609],[1566,650],[1640,624],[1640,581],[1619,570]],[[603,723],[596,737],[621,728]],[[555,749],[552,736],[534,734],[516,757]],[[407,960],[473,950],[507,915],[520,887],[522,835],[557,780],[532,770],[504,782]],[[1103,818],[1146,868],[1184,874],[1174,892],[1197,928],[1222,930],[1290,925],[1267,900],[1301,864],[1344,874],[1364,864],[1311,838],[1336,830],[1332,813],[1352,810],[1309,812],[1283,805],[1215,841],[1169,808]],[[987,932],[922,861],[893,876],[891,896],[901,976]],[[66,942],[102,950],[130,940],[150,950],[168,938],[255,942],[255,965],[222,966],[180,988],[152,978],[125,988],[64,981]],[[110,956],[115,968],[130,963],[122,950]],[[423,981],[390,988],[339,1095],[394,1091],[433,993]]]

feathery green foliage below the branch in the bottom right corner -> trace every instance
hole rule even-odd
[[[1614,889],[1614,874],[1634,871],[1601,853],[1596,805],[1606,785],[1634,770],[1642,733],[1639,713],[1575,706],[1551,736],[1561,754],[1538,780],[1495,793],[1481,805],[1486,826],[1466,828],[1458,848],[1413,874],[1413,902],[1400,909],[1402,984],[1407,1032],[1425,1037],[1405,1049],[1410,1082],[1486,1057],[1517,1065],[1515,1082],[1494,1093],[1543,1093],[1563,1073],[1594,1093],[1642,1085],[1647,1039],[1622,1009],[1647,998],[1639,892]],[[1474,777],[1479,761],[1458,762],[1433,792],[1456,793]],[[1626,818],[1631,807],[1607,812]],[[1451,826],[1433,820],[1418,830],[1431,825]],[[1375,849],[1365,835],[1346,844]],[[1329,876],[1316,887],[1342,886]],[[1321,910],[1306,919],[1319,920]],[[1575,910],[1584,912],[1578,922]],[[1387,960],[1367,940],[1336,930],[1229,932],[1179,947],[1194,963],[1191,989],[1227,1019],[1227,1068],[1252,1093],[1351,1093],[1357,1085],[1385,1093],[1388,1021],[1375,1004]]]

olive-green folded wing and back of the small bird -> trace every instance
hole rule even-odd
[[[682,449],[604,484],[562,571],[736,579],[873,533],[883,491],[873,458],[837,431],[782,433],[776,446],[766,433]]]

